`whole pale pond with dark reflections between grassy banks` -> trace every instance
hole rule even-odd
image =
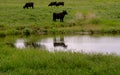
[[[120,55],[120,36],[68,35],[43,38],[39,36],[36,41],[32,42],[28,41],[28,38],[17,38],[14,40],[13,45],[20,49],[32,47],[43,48],[48,51],[112,53]]]

